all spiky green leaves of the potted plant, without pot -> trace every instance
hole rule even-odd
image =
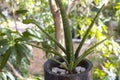
[[[90,54],[91,52],[94,51],[94,48],[96,46],[98,46],[100,43],[102,43],[103,41],[105,41],[106,39],[98,42],[97,44],[93,45],[92,47],[90,47],[88,50],[85,50],[85,52],[80,56],[78,57],[78,54],[79,54],[79,51],[81,49],[81,47],[83,46],[86,38],[88,37],[88,34],[91,30],[91,28],[93,27],[93,24],[95,23],[100,11],[102,10],[102,8],[98,11],[98,13],[96,14],[95,18],[92,20],[92,22],[90,23],[90,26],[88,27],[88,29],[86,30],[86,33],[77,49],[77,51],[75,52],[75,55],[74,55],[74,52],[73,52],[73,45],[72,45],[72,36],[71,36],[71,31],[70,31],[70,27],[69,27],[69,23],[68,23],[68,19],[67,19],[67,16],[66,16],[66,13],[65,13],[65,10],[64,10],[64,7],[61,3],[61,1],[58,2],[59,3],[59,6],[60,6],[60,11],[61,11],[61,15],[62,15],[62,20],[63,20],[63,26],[64,26],[64,35],[65,35],[65,44],[66,44],[66,48],[63,48],[61,44],[59,44],[53,37],[51,37],[42,27],[41,27],[41,24],[34,20],[34,19],[27,19],[27,20],[24,20],[23,23],[25,24],[29,24],[29,23],[33,23],[35,24],[47,37],[49,40],[52,40],[64,53],[65,53],[65,58],[64,56],[62,56],[61,54],[59,54],[54,48],[51,48],[52,50],[50,50],[50,52],[53,52],[53,54],[61,57],[67,64],[67,66],[64,66],[65,69],[67,69],[70,73],[72,73],[73,69],[75,68],[75,66],[77,66],[79,64],[79,62],[84,59],[88,54]],[[41,48],[41,47],[39,47]],[[43,49],[43,48],[42,48]],[[46,49],[44,49],[46,50]],[[75,59],[76,57],[76,59]],[[55,60],[55,59],[54,59]],[[56,62],[62,64],[61,62],[59,62],[58,60],[55,60]]]

